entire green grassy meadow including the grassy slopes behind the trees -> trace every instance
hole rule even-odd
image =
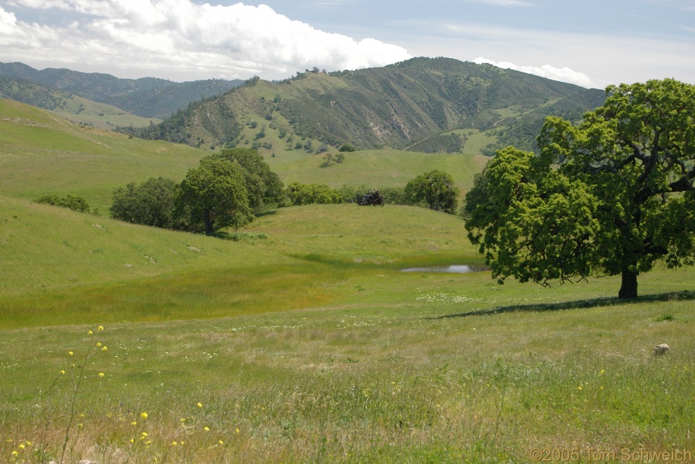
[[[45,185],[105,211],[206,152],[3,111],[0,462],[695,461],[692,269],[619,301],[619,278],[402,272],[481,262],[460,218],[409,206],[279,209],[231,241],[33,204]],[[404,154],[333,182],[425,165]],[[462,185],[477,165],[430,160]]]

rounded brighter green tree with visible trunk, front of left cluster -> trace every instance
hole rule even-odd
[[[208,235],[223,227],[238,228],[253,220],[244,174],[230,160],[204,157],[178,186],[177,210],[190,218],[190,229]]]

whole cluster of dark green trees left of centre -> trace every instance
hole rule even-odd
[[[111,217],[130,223],[214,234],[279,206],[283,184],[255,150],[225,149],[200,160],[181,183],[149,178],[113,193]]]

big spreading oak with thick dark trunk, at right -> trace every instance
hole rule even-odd
[[[611,86],[573,126],[547,118],[540,156],[497,153],[466,197],[468,237],[503,281],[622,276],[695,262],[695,86]]]

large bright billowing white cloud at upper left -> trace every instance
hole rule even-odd
[[[61,60],[73,69],[108,66],[106,72],[120,75],[130,70],[185,79],[286,78],[314,66],[358,69],[410,57],[397,45],[330,34],[265,5],[190,0],[10,0],[8,5],[24,11],[56,8],[75,17],[64,27],[23,22],[0,6],[0,56],[28,64]]]

